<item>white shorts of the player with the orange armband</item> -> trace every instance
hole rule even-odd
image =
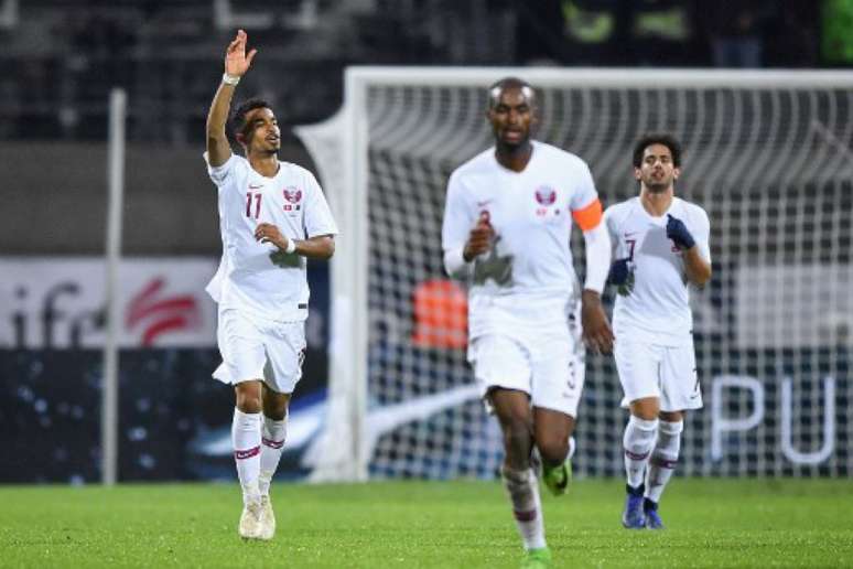
[[[518,389],[533,407],[577,416],[586,372],[583,344],[568,330],[526,340],[487,334],[472,341],[468,361],[483,397],[492,388]]]

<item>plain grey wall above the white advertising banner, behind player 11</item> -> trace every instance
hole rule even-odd
[[[218,256],[216,189],[203,148],[127,147],[126,255]],[[314,171],[289,141],[282,160]],[[107,147],[89,142],[2,142],[2,255],[97,255],[104,251]]]

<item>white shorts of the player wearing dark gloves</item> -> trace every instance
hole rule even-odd
[[[692,342],[683,346],[663,346],[620,336],[613,355],[625,391],[623,407],[647,397],[659,398],[661,411],[702,407]]]

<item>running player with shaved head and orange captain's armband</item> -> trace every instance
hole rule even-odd
[[[497,416],[504,485],[529,567],[550,563],[537,474],[555,495],[571,476],[570,437],[584,382],[584,346],[609,352],[601,304],[611,262],[602,205],[586,163],[531,139],[537,97],[508,77],[488,90],[495,146],[450,178],[444,266],[468,289],[468,361]],[[569,239],[572,219],[586,243],[581,289]]]

